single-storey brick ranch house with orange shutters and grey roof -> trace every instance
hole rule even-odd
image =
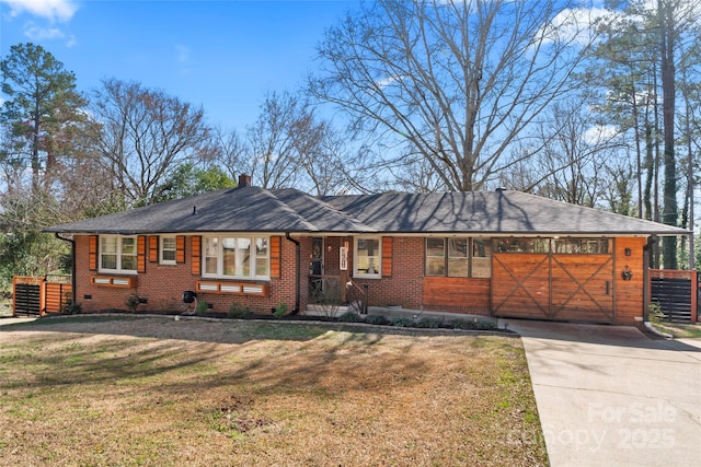
[[[370,306],[634,324],[647,252],[682,229],[519,191],[313,197],[237,188],[47,230],[73,246],[85,312]]]

